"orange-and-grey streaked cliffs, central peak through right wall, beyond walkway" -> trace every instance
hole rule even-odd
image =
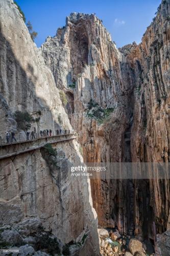
[[[169,161],[169,20],[169,0],[162,1],[141,44],[116,49],[94,14],[71,13],[42,45],[84,161]],[[150,236],[153,221],[160,232],[168,227],[168,180],[93,180],[91,187],[101,226],[136,236]]]

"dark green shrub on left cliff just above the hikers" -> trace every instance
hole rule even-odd
[[[34,118],[28,112],[15,111],[15,120],[18,128],[21,130],[28,130],[31,127],[31,122],[34,122]]]

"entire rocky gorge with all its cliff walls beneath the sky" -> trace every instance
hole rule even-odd
[[[53,154],[43,147],[0,160],[3,243],[8,237],[33,255],[53,254],[45,237],[58,253],[67,246],[72,255],[146,255],[141,242],[154,241],[153,223],[159,241],[169,237],[168,176],[71,180],[69,169],[169,162],[170,1],[161,2],[139,45],[119,49],[102,21],[83,13],[71,13],[38,49],[13,1],[0,7],[1,130],[23,132],[14,113],[27,111],[38,118],[37,133],[62,127],[78,135]],[[28,231],[27,222],[37,227]]]

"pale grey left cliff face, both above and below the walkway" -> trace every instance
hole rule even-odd
[[[1,136],[11,129],[19,133],[16,110],[27,111],[34,118],[40,115],[31,126],[37,133],[44,129],[55,132],[59,127],[71,129],[53,74],[12,0],[0,3],[0,33]],[[39,150],[1,160],[1,225],[38,218],[43,228],[52,229],[63,243],[89,232],[84,250],[98,254],[97,217],[89,181],[70,179],[70,166],[83,161],[79,145],[72,141],[57,146],[65,158],[53,172]]]

